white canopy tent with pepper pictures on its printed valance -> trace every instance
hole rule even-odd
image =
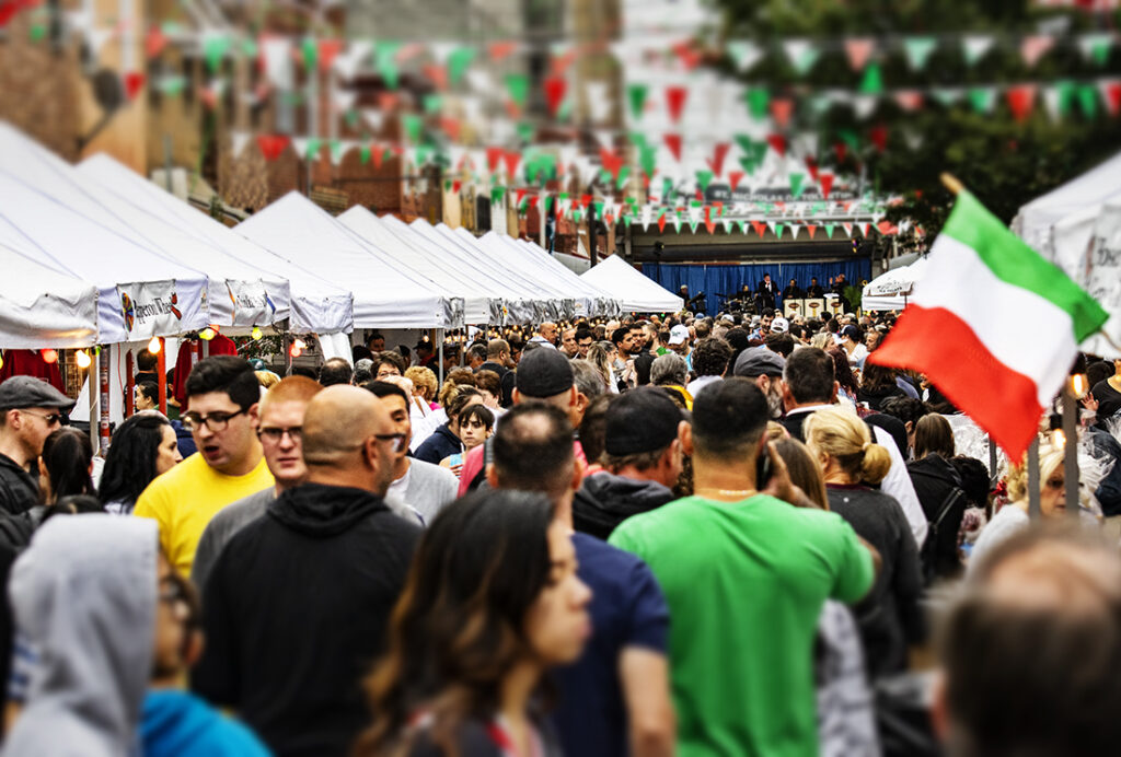
[[[0,171],[0,242],[98,288],[99,344],[205,328],[206,275]]]

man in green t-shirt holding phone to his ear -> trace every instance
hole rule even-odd
[[[610,542],[654,570],[669,605],[678,754],[817,755],[814,630],[827,598],[859,600],[873,560],[765,449],[767,401],[745,378],[702,392],[683,448],[695,495],[624,521]],[[757,460],[775,470],[756,489]]]

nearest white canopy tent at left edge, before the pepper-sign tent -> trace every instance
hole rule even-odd
[[[0,348],[91,347],[98,288],[0,244]]]

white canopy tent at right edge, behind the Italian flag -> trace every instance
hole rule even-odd
[[[1088,243],[1093,218],[1097,216],[1102,203],[1119,196],[1121,153],[1021,207],[1012,219],[1012,231],[1034,250],[1062,265],[1059,251],[1055,247],[1056,240],[1053,237],[1055,225],[1072,217],[1067,223],[1068,236],[1073,227],[1078,227],[1082,230],[1083,243]],[[1081,223],[1073,219],[1080,217]]]

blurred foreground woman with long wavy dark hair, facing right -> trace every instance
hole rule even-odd
[[[590,599],[545,495],[492,490],[444,508],[367,680],[373,726],[355,755],[559,755],[538,690],[583,652]]]

